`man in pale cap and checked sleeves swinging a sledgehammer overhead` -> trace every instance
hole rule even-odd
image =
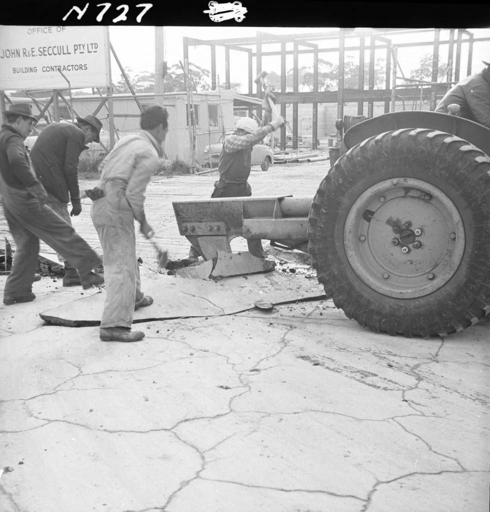
[[[248,182],[252,167],[252,147],[284,124],[284,119],[281,116],[273,115],[268,96],[275,100],[272,93],[266,93],[262,104],[265,112],[260,128],[250,117],[241,117],[235,125],[235,132],[224,138],[219,155],[219,180],[214,184],[212,198],[249,197],[252,195],[252,188]],[[264,258],[260,240],[247,239],[247,243],[252,255]],[[197,262],[200,255],[200,252],[191,245],[189,261]]]

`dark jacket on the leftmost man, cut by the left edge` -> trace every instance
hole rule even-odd
[[[0,130],[0,173],[12,188],[40,186],[30,164],[24,139],[8,124],[3,124]]]

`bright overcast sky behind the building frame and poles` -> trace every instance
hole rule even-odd
[[[193,37],[197,39],[211,40],[211,39],[225,39],[225,38],[236,38],[255,36],[257,31],[270,32],[273,34],[293,34],[293,33],[308,33],[308,32],[322,32],[322,31],[335,31],[338,28],[324,27],[324,28],[311,28],[311,27],[165,27],[165,59],[169,66],[177,64],[179,60],[183,59],[183,36]],[[490,37],[490,28],[485,29],[472,29],[468,28],[475,37]],[[134,72],[139,73],[142,71],[154,72],[155,71],[155,29],[154,27],[122,27],[122,26],[111,26],[109,29],[109,37],[112,46],[121,61],[123,67],[131,68]],[[419,42],[419,41],[431,41],[434,37],[434,32],[419,32],[415,34],[403,35],[403,36],[389,36],[393,43],[396,42]],[[448,30],[441,31],[441,40],[447,39]],[[463,69],[466,69],[466,45],[463,45],[461,52],[461,64]],[[271,48],[271,50],[278,50],[279,47]],[[216,73],[220,75],[220,81],[224,81],[224,58],[220,55],[220,48],[216,50]],[[417,49],[400,49],[399,59],[402,70],[405,75],[410,75],[412,69],[418,67],[420,57],[426,53],[431,53],[431,46],[424,46]],[[232,52],[233,59],[231,63],[231,81],[238,81],[242,84],[247,81],[247,74],[244,71],[247,70],[246,60],[243,63],[239,61],[240,58],[245,59],[246,54],[243,52]],[[224,55],[224,53],[223,53]],[[328,55],[328,57],[327,57]],[[320,54],[320,58],[332,60],[334,53]],[[366,56],[368,54],[366,53]],[[382,55],[380,55],[382,56]],[[300,57],[304,58],[304,62],[299,62],[299,65],[309,65],[312,57]],[[310,60],[308,60],[310,59]],[[482,42],[474,45],[473,50],[473,72],[478,71],[482,65],[481,60],[488,61],[490,59],[490,41]],[[189,60],[196,63],[198,66],[210,69],[210,50],[209,47],[199,46],[197,48],[191,47],[189,49]],[[443,62],[447,61],[447,45],[441,46],[440,49],[440,60]],[[266,58],[262,60],[263,67],[267,71],[280,72],[280,58]],[[292,57],[287,62],[288,69],[292,67]],[[272,69],[271,69],[272,68]],[[275,68],[275,69],[274,69]],[[113,63],[113,79],[117,81],[117,77],[120,75],[117,64]],[[464,76],[462,73],[461,77]],[[242,88],[243,91],[243,88]]]

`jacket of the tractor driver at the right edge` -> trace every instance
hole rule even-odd
[[[447,91],[435,112],[447,114],[447,106],[452,103],[460,105],[460,117],[490,128],[490,66],[459,81]]]

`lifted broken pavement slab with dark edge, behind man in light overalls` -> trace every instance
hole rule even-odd
[[[133,323],[189,318],[194,316],[229,315],[255,307],[259,300],[274,305],[325,298],[323,288],[304,276],[268,272],[232,276],[218,281],[182,279],[141,270],[142,288],[153,297],[153,304],[134,313]],[[53,325],[86,327],[100,324],[106,292],[47,309],[39,316]]]

